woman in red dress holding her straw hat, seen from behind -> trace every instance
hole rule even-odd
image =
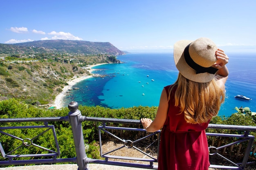
[[[208,170],[205,129],[225,99],[228,56],[208,38],[174,44],[179,75],[164,87],[157,115],[141,119],[147,132],[162,128],[158,170]]]

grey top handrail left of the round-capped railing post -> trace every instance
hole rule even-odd
[[[69,121],[69,117],[26,117],[26,118],[9,118],[0,119],[0,123],[9,122],[29,122],[29,121]]]

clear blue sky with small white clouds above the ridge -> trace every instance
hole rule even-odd
[[[256,52],[256,0],[0,0],[0,43],[110,42],[120,50],[172,50],[212,39]]]

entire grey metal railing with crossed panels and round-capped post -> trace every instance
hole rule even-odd
[[[78,110],[78,104],[77,102],[71,102],[68,106],[70,109],[70,112],[68,113],[68,116],[65,117],[42,117],[42,118],[14,118],[14,119],[0,119],[0,123],[10,123],[10,122],[34,122],[34,121],[40,121],[44,122],[44,126],[12,126],[12,127],[0,127],[0,134],[7,135],[13,139],[16,139],[20,141],[20,146],[18,148],[15,148],[11,151],[4,150],[4,147],[1,144],[0,140],[0,152],[2,154],[2,157],[7,158],[7,161],[0,161],[0,166],[7,166],[7,165],[25,165],[25,164],[44,164],[44,163],[65,163],[65,162],[72,162],[77,163],[79,170],[89,170],[89,163],[99,163],[99,164],[107,164],[107,165],[114,165],[114,166],[126,166],[126,167],[135,167],[135,168],[146,168],[146,169],[157,169],[157,165],[154,165],[154,163],[157,163],[158,161],[158,146],[159,146],[159,137],[160,137],[160,130],[155,133],[150,133],[146,136],[143,136],[139,139],[135,140],[127,140],[122,139],[122,137],[119,137],[118,135],[113,134],[110,132],[110,130],[121,130],[121,131],[135,131],[135,132],[146,132],[146,130],[141,128],[125,128],[125,127],[113,127],[113,126],[106,126],[106,123],[117,123],[117,124],[141,124],[140,120],[134,120],[134,119],[112,119],[112,118],[99,118],[99,117],[85,117],[81,115],[80,110]],[[57,158],[61,152],[58,146],[58,140],[56,137],[56,132],[53,125],[48,125],[48,121],[69,121],[72,127],[72,133],[74,137],[74,147],[76,150],[76,157],[74,158]],[[81,123],[83,121],[97,121],[102,122],[102,126],[98,127],[99,130],[99,144],[100,144],[100,153],[101,157],[104,157],[105,160],[101,159],[91,159],[88,158],[85,153],[85,143],[83,138],[83,132],[82,132],[82,125]],[[36,129],[38,133],[35,134],[34,137],[26,137],[25,139],[22,139],[21,137],[16,137],[13,134],[4,132],[6,129]],[[217,157],[220,157],[221,159],[224,159],[229,163],[229,165],[223,166],[223,165],[212,165],[210,168],[221,168],[221,169],[230,169],[230,170],[244,170],[245,166],[247,164],[250,152],[252,150],[252,146],[254,144],[254,136],[249,135],[250,131],[256,131],[256,127],[254,126],[235,126],[235,125],[218,125],[218,124],[209,124],[208,128],[213,129],[228,129],[228,130],[238,130],[238,131],[244,131],[244,134],[236,135],[236,134],[222,134],[222,133],[207,133],[208,137],[228,137],[236,139],[236,141],[232,140],[230,143],[225,143],[223,146],[210,146],[209,147],[209,154],[214,155]],[[48,149],[43,146],[39,146],[34,142],[40,135],[45,134],[46,132],[51,132],[54,141],[56,150]],[[113,150],[110,150],[108,152],[103,152],[102,150],[102,142],[101,142],[101,135],[104,133],[105,135],[110,135],[111,137],[114,137],[117,141],[121,142],[121,146],[114,148]],[[140,143],[141,141],[155,137],[156,140],[153,141],[153,143],[157,142],[157,155],[152,156],[145,151],[143,151],[141,148],[135,146],[135,144]],[[221,154],[220,151],[225,153],[226,148],[233,147],[235,145],[240,145],[245,143],[245,152],[243,154],[243,161],[241,163],[235,163],[229,157],[225,157],[225,154]],[[16,150],[22,148],[22,147],[37,147],[44,151],[47,151],[48,153],[34,153],[34,154],[20,154],[20,155],[12,155],[13,152]],[[68,146],[67,146],[68,147]],[[140,152],[141,154],[144,154],[145,157],[126,157],[126,156],[116,156],[113,155],[115,151],[119,149],[134,149]],[[241,147],[240,147],[241,148]],[[224,151],[223,151],[224,150]],[[239,149],[240,152],[240,149]],[[238,152],[238,154],[239,154]],[[28,159],[28,160],[13,160],[13,158],[22,158],[22,157],[47,157],[45,159]],[[48,158],[52,157],[52,158]],[[113,159],[114,161],[110,161],[109,159]],[[124,161],[115,161],[115,159],[121,159],[121,160],[133,160],[133,161],[142,161],[143,163],[131,163],[131,162],[124,162]],[[146,163],[146,164],[145,164]]]

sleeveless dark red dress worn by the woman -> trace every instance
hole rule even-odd
[[[167,96],[169,87],[164,87]],[[161,132],[158,170],[208,170],[209,150],[204,130],[209,122],[186,123],[184,113],[178,114],[180,108],[174,106],[174,92],[171,93],[168,107]]]

